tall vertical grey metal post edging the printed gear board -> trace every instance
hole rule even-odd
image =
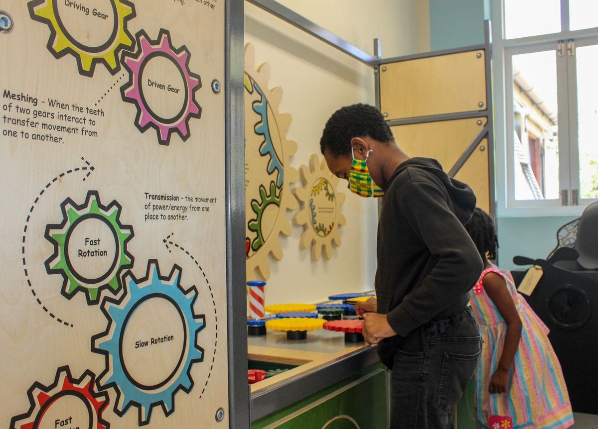
[[[249,427],[245,304],[245,128],[243,0],[225,4],[225,174],[229,427]]]

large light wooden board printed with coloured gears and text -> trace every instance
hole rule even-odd
[[[2,10],[0,426],[228,427],[225,2]]]

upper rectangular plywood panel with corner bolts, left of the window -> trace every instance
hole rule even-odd
[[[380,66],[380,111],[402,119],[486,109],[483,50]]]

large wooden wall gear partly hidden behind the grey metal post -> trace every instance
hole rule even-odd
[[[299,179],[291,167],[297,143],[286,139],[291,115],[280,114],[282,89],[269,90],[270,66],[255,68],[255,50],[245,45],[245,254],[247,279],[270,278],[268,255],[282,259],[279,235],[290,236],[286,210],[297,209],[290,186]]]

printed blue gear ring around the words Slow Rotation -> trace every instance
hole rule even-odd
[[[123,298],[116,304],[106,300],[102,304],[102,311],[108,318],[108,327],[105,332],[94,335],[91,339],[92,351],[103,354],[106,358],[106,369],[100,374],[97,385],[105,390],[114,388],[117,391],[117,400],[114,412],[123,416],[129,407],[134,405],[139,409],[139,425],[149,424],[152,408],[161,405],[164,415],[169,416],[174,410],[175,395],[179,390],[189,393],[193,388],[191,367],[194,363],[203,361],[203,348],[197,345],[197,336],[206,326],[205,315],[196,315],[193,312],[197,299],[195,286],[185,290],[181,286],[181,267],[174,265],[167,277],[160,275],[158,261],[148,261],[148,268],[144,278],[136,279],[131,271],[123,277],[130,296],[126,304]],[[168,299],[178,307],[185,322],[185,350],[178,368],[172,372],[172,379],[155,387],[155,390],[140,388],[135,380],[124,369],[120,356],[121,341],[123,338],[124,322],[129,319],[137,304],[142,300],[152,298]],[[114,325],[114,327],[112,326]],[[180,369],[182,367],[182,369]],[[174,376],[175,374],[178,374]]]

